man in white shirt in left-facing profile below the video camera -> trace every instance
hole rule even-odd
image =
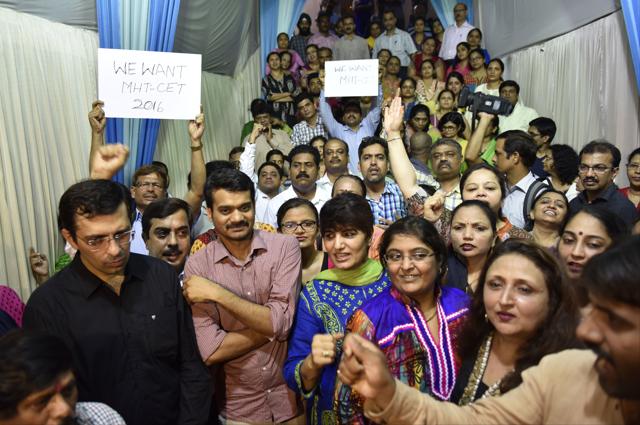
[[[511,224],[522,229],[525,228],[529,215],[529,211],[526,214],[524,212],[527,192],[541,191],[546,187],[546,183],[540,184],[537,176],[531,172],[536,151],[536,142],[523,131],[501,133],[496,138],[494,163],[506,175],[509,186],[502,212]],[[531,196],[534,195],[532,193]]]

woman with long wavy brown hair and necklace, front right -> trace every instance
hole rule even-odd
[[[517,387],[547,354],[580,347],[577,306],[562,268],[533,242],[496,247],[462,328],[451,401],[466,405]]]

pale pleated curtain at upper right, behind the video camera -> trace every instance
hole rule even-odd
[[[503,57],[520,98],[558,125],[554,143],[577,151],[605,138],[626,156],[640,146],[638,93],[622,12]],[[620,167],[619,185],[626,185]]]

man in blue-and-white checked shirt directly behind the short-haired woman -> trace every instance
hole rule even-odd
[[[404,196],[398,185],[387,181],[389,148],[379,137],[368,137],[358,147],[360,172],[367,188],[366,198],[371,206],[374,223],[386,227],[407,215]]]

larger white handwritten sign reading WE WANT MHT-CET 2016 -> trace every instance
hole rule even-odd
[[[193,119],[202,56],[98,49],[98,96],[107,117]]]

